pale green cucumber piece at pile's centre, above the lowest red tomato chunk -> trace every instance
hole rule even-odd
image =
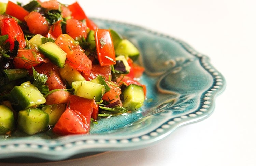
[[[74,94],[80,97],[95,99],[99,102],[106,92],[105,86],[90,81],[75,81],[72,82]]]

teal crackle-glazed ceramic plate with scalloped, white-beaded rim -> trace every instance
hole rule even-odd
[[[0,158],[28,156],[63,160],[81,153],[120,151],[150,146],[182,125],[212,114],[215,99],[225,80],[209,58],[185,42],[142,27],[94,19],[101,28],[111,28],[140,50],[145,67],[141,82],[147,100],[137,112],[92,125],[88,135],[53,137],[49,133],[14,134],[0,139]]]

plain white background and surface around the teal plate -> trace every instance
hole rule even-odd
[[[182,39],[210,57],[213,66],[224,75],[227,87],[217,97],[214,113],[209,118],[179,128],[156,145],[41,165],[256,165],[256,5],[253,0],[78,2],[89,17],[131,23]]]

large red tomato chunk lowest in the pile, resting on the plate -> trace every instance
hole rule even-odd
[[[53,132],[60,135],[86,134],[89,128],[86,118],[79,111],[67,108],[55,124]]]

